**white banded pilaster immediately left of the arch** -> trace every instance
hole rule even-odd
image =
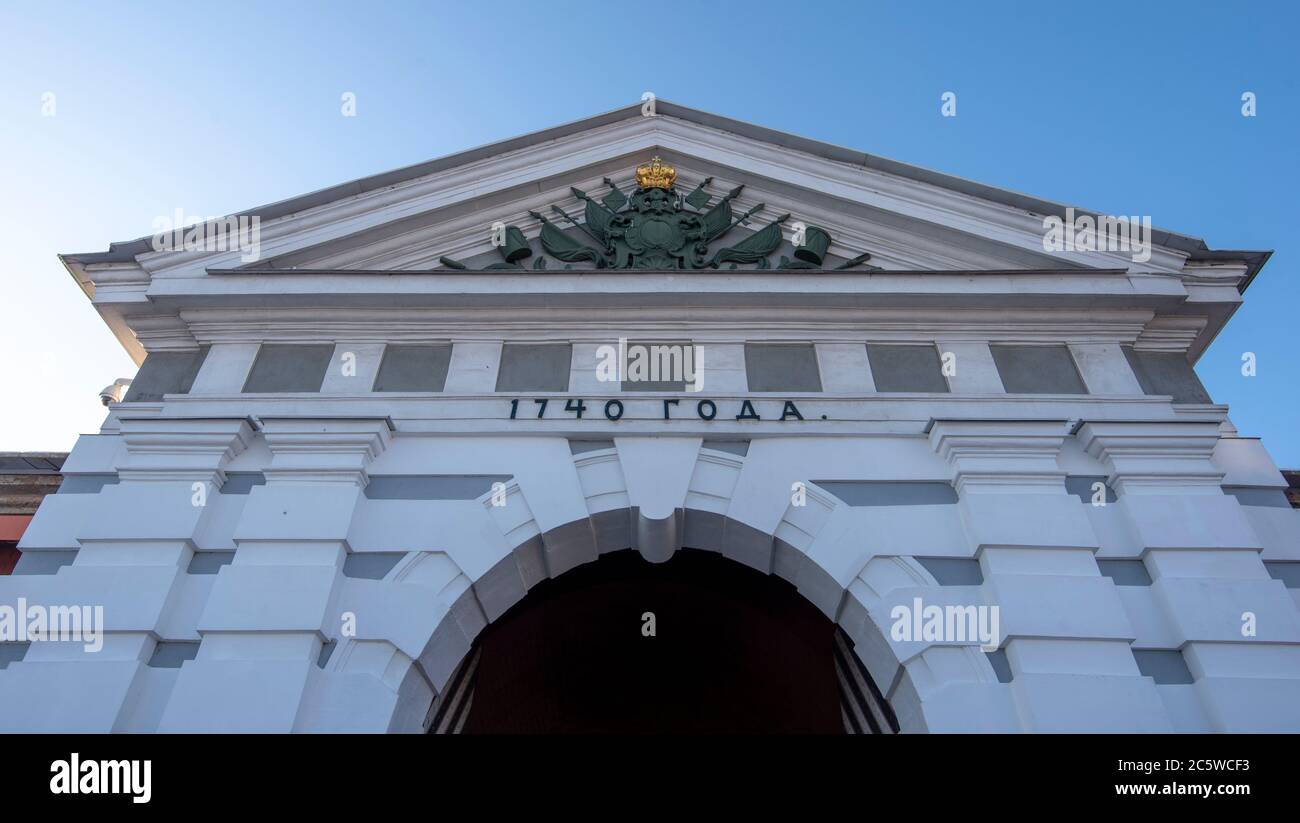
[[[161,731],[287,732],[337,637],[333,605],[367,467],[387,419],[264,419],[265,486],[250,493],[199,618],[203,645],[177,681]]]

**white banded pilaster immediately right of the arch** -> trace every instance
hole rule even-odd
[[[1093,560],[1097,537],[1065,489],[1057,456],[1069,433],[1066,421],[935,421],[930,441],[953,467],[1026,728],[1169,731]]]

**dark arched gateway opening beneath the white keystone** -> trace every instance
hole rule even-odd
[[[484,629],[430,731],[897,731],[844,640],[780,577],[708,551],[660,564],[616,551],[538,584]]]

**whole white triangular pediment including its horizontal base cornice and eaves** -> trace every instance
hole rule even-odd
[[[637,169],[654,157],[672,168],[673,179],[644,189]],[[628,198],[662,190],[670,203],[614,207],[624,222],[611,239],[603,229],[592,230],[586,203],[576,194],[603,200],[611,189]],[[698,221],[712,225],[706,213],[728,195],[727,217],[734,225],[703,237],[710,233],[701,233]],[[655,208],[662,213],[646,213]],[[1074,211],[1096,217],[659,101],[654,116],[628,107],[203,224],[255,224],[252,250],[202,243],[166,248],[156,237],[143,237],[113,243],[107,252],[64,255],[62,261],[140,359],[144,339],[151,348],[185,348],[212,338],[196,333],[198,316],[187,311],[391,306],[395,294],[406,307],[576,306],[592,304],[592,290],[606,303],[636,294],[641,307],[673,291],[681,293],[673,300],[702,306],[785,300],[790,307],[861,308],[965,300],[967,307],[997,308],[1015,299],[1052,309],[1113,307],[1141,293],[1150,306],[1140,311],[1193,315],[1188,322],[1199,348],[1269,256],[1210,250],[1160,229],[1149,231],[1144,259],[1130,251],[1049,250],[1046,221]],[[664,228],[679,220],[676,229]],[[551,248],[543,237],[547,222]],[[526,254],[503,260],[494,228],[512,228],[511,242]],[[797,248],[797,231],[810,228],[824,233],[824,250],[797,254],[806,251]],[[806,237],[802,243],[815,246]],[[572,251],[575,244],[576,254],[556,254],[556,246]],[[503,263],[512,268],[500,272]],[[588,269],[707,276],[733,268],[780,277],[711,278],[707,285],[698,278],[564,277],[582,278]],[[818,269],[805,273],[819,277],[800,281],[798,269]],[[859,272],[881,277],[855,277]],[[426,273],[441,276],[410,277]]]

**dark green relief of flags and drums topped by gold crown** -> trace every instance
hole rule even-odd
[[[771,255],[785,241],[781,225],[790,220],[789,215],[781,215],[732,246],[719,243],[737,226],[749,229],[749,221],[766,208],[759,203],[738,217],[732,213],[732,202],[745,186],[732,189],[714,203],[714,196],[707,191],[712,182],[710,177],[690,194],[681,195],[673,189],[676,169],[659,157],[637,166],[636,181],[637,189],[630,196],[623,194],[610,178],[604,178],[610,190],[599,199],[589,196],[581,189],[571,189],[573,196],[584,204],[582,221],[558,205],[551,207],[550,217],[529,212],[542,224],[541,243],[545,251],[533,261],[532,268],[546,269],[549,255],[564,268],[572,268],[575,263],[590,263],[598,269],[655,272],[716,269],[723,265],[732,269],[741,265],[768,269],[772,265]],[[567,234],[560,225],[577,229],[592,244]],[[829,233],[818,226],[798,224],[793,235],[793,256],[783,255],[776,268],[822,269],[831,247]],[[523,261],[533,256],[519,226],[504,226],[499,242],[494,241],[494,244],[502,261],[484,267],[488,270],[524,269]],[[870,254],[861,254],[835,268],[874,269],[875,267],[863,265],[870,257]],[[468,268],[451,257],[441,257],[441,263],[452,269]]]

